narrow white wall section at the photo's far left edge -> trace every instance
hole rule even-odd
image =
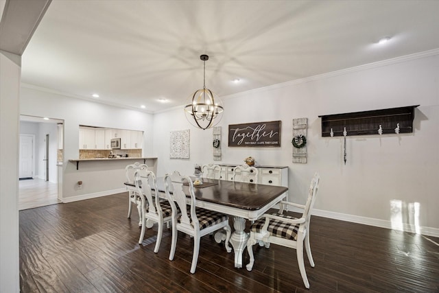
[[[21,57],[0,51],[0,292],[19,292]]]

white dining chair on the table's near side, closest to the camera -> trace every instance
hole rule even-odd
[[[183,183],[188,185],[190,198],[187,198],[183,191]],[[200,237],[223,228],[226,231],[224,246],[226,246],[228,253],[232,251],[232,248],[228,245],[231,233],[228,225],[228,215],[195,207],[195,190],[189,176],[181,176],[177,171],[166,174],[165,193],[172,207],[172,240],[169,260],[173,260],[176,253],[178,231],[193,237],[193,255],[190,270],[192,274],[195,273],[197,267]],[[188,199],[189,204],[187,204]],[[178,207],[181,211],[180,215],[178,215]]]

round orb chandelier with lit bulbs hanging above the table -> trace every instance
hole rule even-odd
[[[189,98],[185,115],[193,126],[205,130],[218,124],[224,108],[221,99],[215,97],[210,89],[206,89],[206,60],[209,60],[209,56],[202,55],[200,59],[204,62],[203,88],[195,91],[192,99]]]

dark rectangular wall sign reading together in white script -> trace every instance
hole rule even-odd
[[[281,121],[230,124],[228,146],[267,148],[281,146]]]

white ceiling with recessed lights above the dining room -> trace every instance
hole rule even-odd
[[[201,54],[206,87],[232,95],[437,49],[438,15],[427,0],[53,0],[23,53],[22,82],[156,113],[202,88]]]

